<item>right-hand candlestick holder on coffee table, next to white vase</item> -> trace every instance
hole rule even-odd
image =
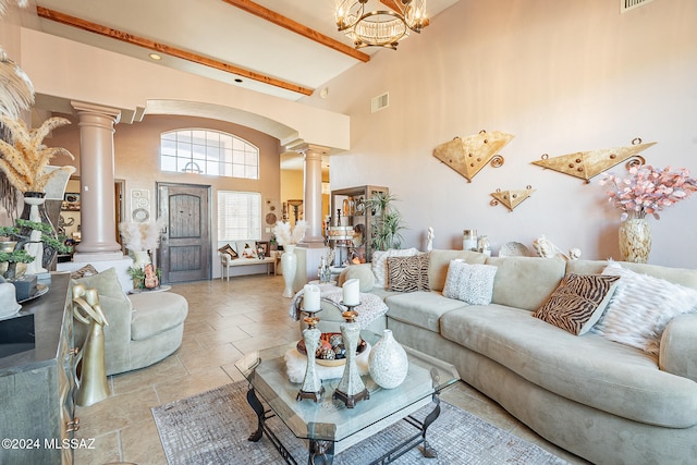
[[[346,307],[353,308],[356,305],[346,305]],[[358,365],[356,364],[356,347],[358,340],[360,339],[360,325],[356,322],[358,313],[348,309],[342,314],[345,322],[341,323],[341,336],[346,347],[346,365],[344,366],[344,374],[339,381],[339,386],[332,394],[332,399],[341,400],[346,408],[353,408],[356,402],[365,399],[370,399],[370,394],[366,389],[360,374],[358,372]]]

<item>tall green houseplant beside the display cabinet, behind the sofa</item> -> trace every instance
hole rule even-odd
[[[393,194],[379,192],[366,200],[366,208],[371,210],[374,216],[371,246],[375,250],[387,250],[389,248],[401,248],[401,231],[405,230],[402,213],[392,205],[398,201]]]

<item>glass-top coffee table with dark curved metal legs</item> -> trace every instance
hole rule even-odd
[[[369,331],[362,331],[360,336],[370,345],[380,338]],[[369,375],[362,376],[370,397],[347,408],[342,401],[332,400],[340,378],[322,380],[325,392],[320,402],[297,400],[301,383],[289,380],[284,359],[285,353],[293,347],[295,343],[288,343],[253,352],[235,364],[249,382],[247,402],[258,417],[258,428],[249,436],[249,441],[259,441],[266,433],[286,463],[297,464],[266,424],[267,419],[277,416],[295,437],[308,441],[308,464],[331,464],[334,454],[404,419],[416,428],[415,433],[393,444],[372,463],[390,463],[419,444],[423,444],[425,456],[436,456],[426,440],[426,430],[440,415],[438,394],[460,379],[453,365],[404,347],[409,359],[404,382],[395,389],[382,389]],[[265,409],[259,397],[270,409]],[[423,421],[411,416],[431,403],[433,409]]]

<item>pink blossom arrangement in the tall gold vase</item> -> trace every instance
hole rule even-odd
[[[665,167],[661,170],[649,164],[632,167],[626,179],[606,173],[600,184],[612,186],[608,191],[609,200],[623,211],[622,221],[645,218],[647,213],[658,220],[659,211],[697,191],[697,180],[689,178],[686,169],[671,171],[671,167]]]

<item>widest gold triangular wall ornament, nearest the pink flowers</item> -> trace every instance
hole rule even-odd
[[[603,171],[609,170],[615,164],[627,161],[627,168],[633,164],[644,164],[644,157],[638,154],[650,146],[656,145],[655,142],[641,144],[641,139],[636,137],[632,140],[632,145],[617,148],[606,148],[600,150],[579,151],[576,154],[562,155],[560,157],[549,158],[547,154],[542,155],[542,159],[533,161],[538,167],[549,168],[560,173],[568,174],[574,178],[580,178],[586,183],[590,183],[590,179]]]

